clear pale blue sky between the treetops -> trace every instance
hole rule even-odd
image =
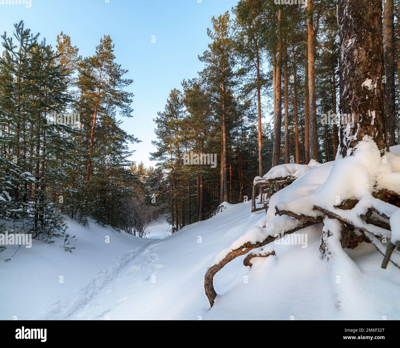
[[[11,1],[11,0],[10,0]],[[18,0],[15,0],[18,1]],[[21,0],[22,1],[22,0]],[[26,0],[27,1],[27,0]],[[122,127],[142,140],[132,145],[132,160],[155,165],[154,123],[163,111],[169,92],[180,88],[184,78],[202,70],[198,55],[210,42],[207,28],[212,16],[235,6],[237,0],[30,0],[26,5],[6,5],[0,0],[0,32],[12,34],[13,24],[24,20],[25,27],[40,32],[55,47],[61,31],[71,36],[82,56],[94,53],[104,34],[115,43],[116,61],[128,69],[134,80],[128,88],[135,95],[133,118]],[[199,1],[199,2],[198,2]],[[152,43],[152,36],[156,42]]]

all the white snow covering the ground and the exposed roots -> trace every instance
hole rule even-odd
[[[272,195],[266,215],[264,211],[251,213],[251,202],[224,203],[227,209],[212,219],[174,234],[165,219],[159,219],[148,227],[146,238],[93,221],[84,227],[68,219],[68,233],[77,239],[72,242],[76,247],[72,253],[64,251],[60,240],[47,245],[35,239],[30,249],[20,248],[14,257],[17,247],[8,246],[0,253],[0,262],[12,257],[0,267],[0,319],[382,320],[385,316],[399,320],[400,272],[392,263],[386,270],[380,268],[380,252],[384,253],[387,244],[367,233],[373,243],[342,249],[340,224],[328,218],[324,225],[304,228],[283,239],[278,236],[250,251],[276,253],[254,257],[251,268],[243,265],[246,255],[229,262],[214,277],[218,295],[210,310],[204,294],[208,267],[247,241],[275,237],[299,223],[286,215],[277,216],[276,206],[317,216],[321,213],[312,207],[320,205],[359,227],[366,226],[360,215],[374,207],[390,217],[392,233],[370,224],[368,230],[392,242],[400,240],[400,209],[370,194],[379,189],[374,186],[378,182],[399,189],[395,174],[400,171],[400,146],[381,157],[366,138],[351,157],[338,156],[334,162],[306,167],[275,167],[277,177],[282,173],[297,173],[298,177]],[[334,207],[346,198],[359,202],[352,210]],[[324,234],[329,250],[325,259],[319,250],[323,231],[329,231],[329,236]],[[105,243],[106,235],[110,243]],[[400,263],[397,250],[392,259]],[[26,296],[26,289],[35,294],[34,301]]]

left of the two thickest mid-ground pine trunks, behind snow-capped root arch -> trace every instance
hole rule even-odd
[[[280,129],[282,125],[282,11],[278,10],[278,58],[275,73],[275,115],[274,115],[274,149],[272,151],[272,167],[279,165]]]

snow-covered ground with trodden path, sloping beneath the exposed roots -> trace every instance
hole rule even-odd
[[[321,177],[329,173],[324,167]],[[382,270],[382,255],[371,243],[346,250],[342,259],[350,263],[322,260],[321,225],[301,231],[303,245],[288,244],[290,235],[272,243],[276,256],[253,259],[252,268],[243,266],[244,256],[226,265],[214,277],[218,296],[210,309],[208,266],[266,220],[265,211],[250,212],[250,202],[225,206],[212,219],[156,241],[90,225],[77,233],[71,254],[35,244],[32,254],[18,251],[0,268],[0,319],[400,319],[400,271],[392,264]],[[106,234],[114,244],[104,245]],[[123,255],[112,265],[118,253]]]

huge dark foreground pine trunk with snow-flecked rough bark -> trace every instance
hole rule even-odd
[[[380,0],[338,1],[340,113],[354,117],[354,127],[341,125],[342,157],[351,155],[365,136],[382,155],[388,150],[381,14]]]

